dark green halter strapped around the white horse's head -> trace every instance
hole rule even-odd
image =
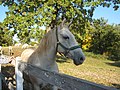
[[[56,46],[56,53],[58,52],[58,45],[60,45],[64,50],[64,55],[66,56],[71,50],[75,50],[75,49],[78,49],[80,48],[79,45],[75,45],[75,46],[72,46],[70,48],[64,46],[62,43],[60,43],[59,39],[58,39],[58,29],[57,29],[57,26],[56,26],[56,39],[57,39],[57,46]]]

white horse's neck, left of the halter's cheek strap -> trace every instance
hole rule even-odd
[[[55,30],[50,30],[41,40],[37,51],[40,54],[40,57],[45,58],[46,60],[55,61],[56,57],[56,35]]]

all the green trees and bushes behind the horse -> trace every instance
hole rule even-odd
[[[41,26],[52,28],[66,18],[83,50],[120,60],[120,25],[92,19],[96,7],[112,5],[117,10],[119,4],[119,0],[1,0],[8,11],[0,22],[0,46],[14,45],[15,35],[22,44],[39,42],[45,33]]]

